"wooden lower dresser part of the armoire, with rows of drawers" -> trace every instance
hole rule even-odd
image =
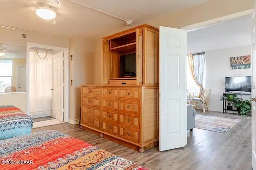
[[[81,86],[80,127],[144,152],[158,145],[158,87]]]

